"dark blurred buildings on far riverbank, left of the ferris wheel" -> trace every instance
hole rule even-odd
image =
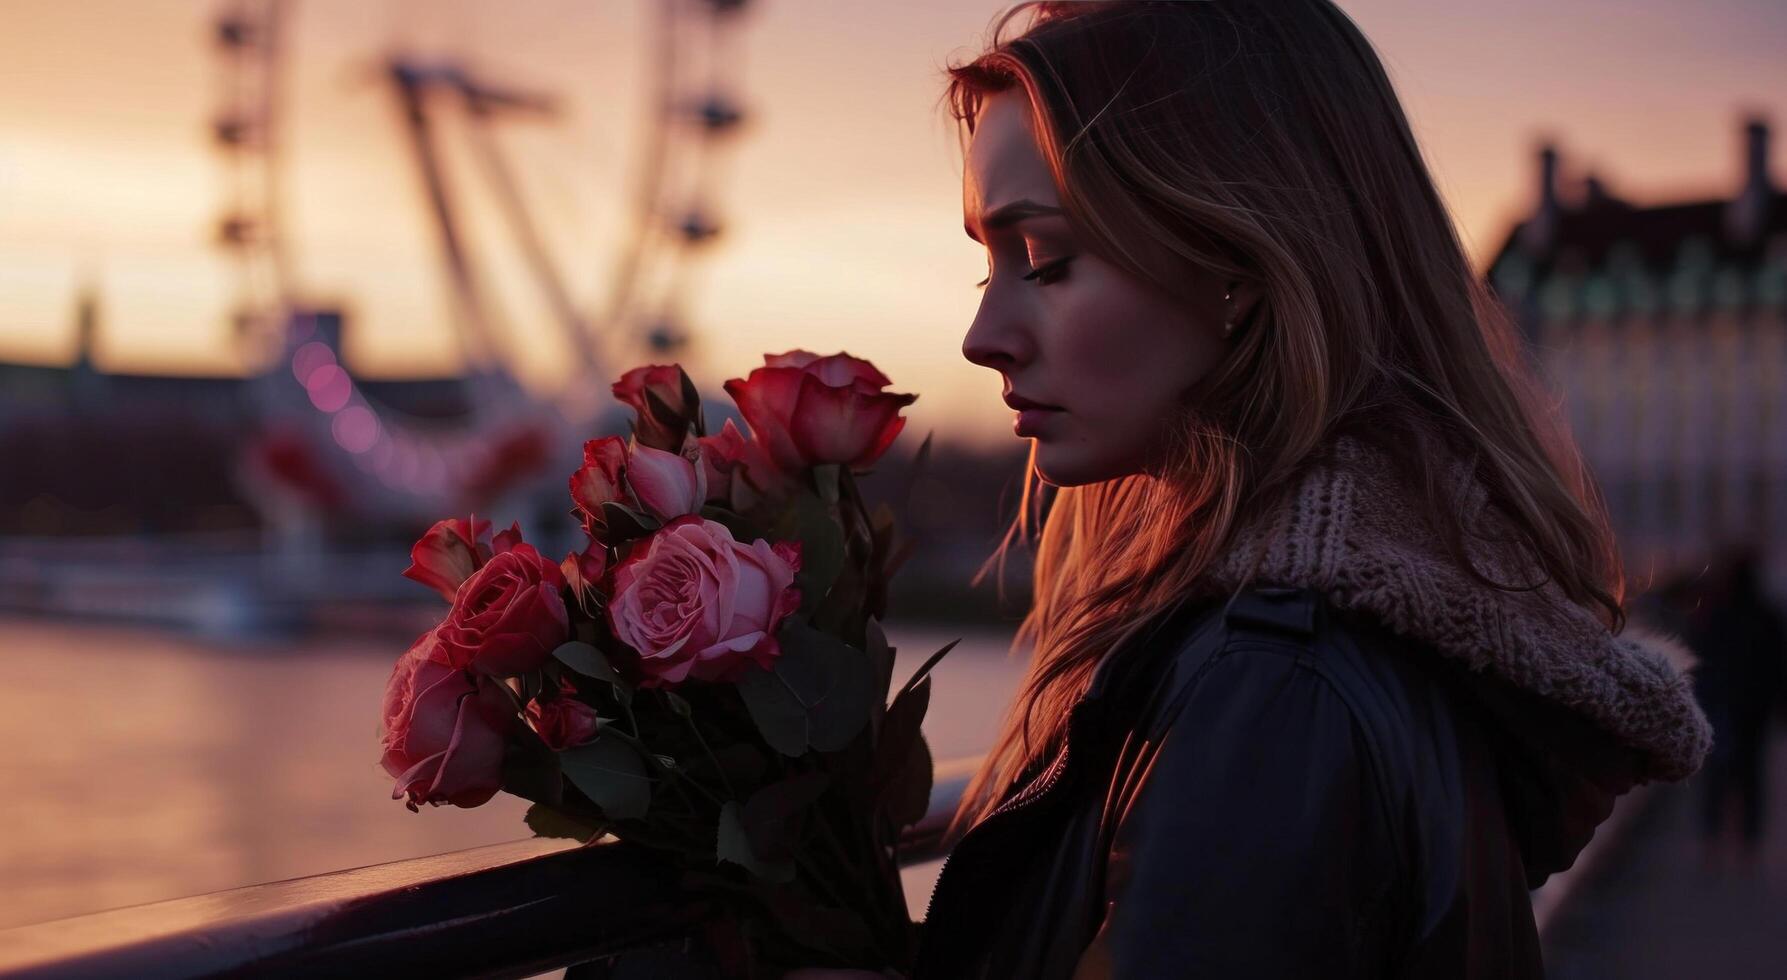
[[[340,349],[338,313],[304,322]],[[98,300],[84,295],[73,365],[0,361],[0,458],[11,461],[0,470],[0,533],[257,529],[270,519],[270,483],[288,503],[302,495],[323,515],[352,517],[350,470],[306,426],[311,406],[282,363],[272,377],[105,372],[93,363],[98,329]],[[470,415],[459,377],[354,386],[406,418],[452,427]]]

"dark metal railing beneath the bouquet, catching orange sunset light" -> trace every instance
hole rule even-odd
[[[947,849],[976,762],[936,767],[902,866]],[[0,978],[533,976],[675,944],[715,912],[638,848],[533,837],[0,930]]]

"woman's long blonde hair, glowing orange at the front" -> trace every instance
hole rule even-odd
[[[1003,38],[1022,13],[1031,20]],[[983,817],[1053,751],[1099,660],[1188,596],[1337,435],[1394,451],[1453,558],[1444,460],[1472,461],[1544,579],[1617,631],[1624,579],[1598,490],[1472,274],[1371,43],[1328,0],[1028,2],[947,68],[963,148],[1020,89],[1086,249],[1169,291],[1204,268],[1262,286],[1174,426],[1169,472],[1045,486],[1035,454],[992,565],[1035,545],[1029,672],[969,785]],[[985,574],[985,569],[983,569]]]

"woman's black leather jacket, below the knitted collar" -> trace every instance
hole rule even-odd
[[[1528,889],[1635,773],[1315,592],[1188,604],[956,844],[915,980],[1542,976]]]

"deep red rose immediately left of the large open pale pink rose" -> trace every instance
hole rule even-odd
[[[459,587],[438,631],[443,656],[497,678],[538,671],[570,635],[561,588],[558,563],[515,544]]]

